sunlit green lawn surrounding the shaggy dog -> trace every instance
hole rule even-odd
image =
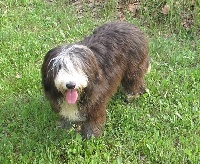
[[[115,94],[103,136],[82,141],[73,129],[56,127],[40,68],[49,49],[115,19],[115,8],[92,17],[87,6],[77,14],[64,1],[8,0],[0,9],[0,163],[199,163],[199,36],[143,27],[150,41],[150,93],[132,103]],[[130,14],[126,19],[140,24]]]

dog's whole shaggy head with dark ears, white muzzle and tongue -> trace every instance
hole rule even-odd
[[[83,45],[61,46],[50,50],[43,63],[42,78],[46,92],[57,90],[69,104],[74,104],[94,74],[93,52]],[[52,86],[53,85],[53,86]]]

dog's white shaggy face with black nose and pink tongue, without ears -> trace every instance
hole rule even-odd
[[[82,45],[63,47],[58,55],[49,60],[48,74],[53,74],[56,89],[63,94],[68,104],[75,104],[81,91],[88,85],[87,63],[91,51]],[[93,55],[93,54],[92,54]]]

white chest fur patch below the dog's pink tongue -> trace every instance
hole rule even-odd
[[[77,104],[68,104],[66,101],[62,101],[60,107],[59,114],[69,121],[85,121],[85,117],[80,114]]]

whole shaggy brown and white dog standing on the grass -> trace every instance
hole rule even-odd
[[[42,84],[51,107],[65,122],[79,125],[83,139],[102,133],[106,104],[122,86],[129,100],[145,92],[150,68],[148,42],[138,27],[107,23],[75,44],[50,50]]]

